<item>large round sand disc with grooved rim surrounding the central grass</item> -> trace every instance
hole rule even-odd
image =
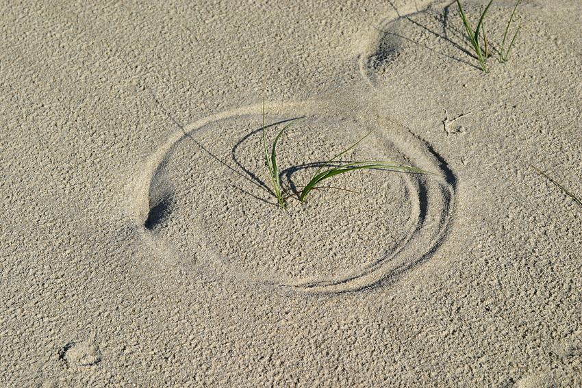
[[[341,161],[395,161],[443,177],[349,172],[326,184],[358,194],[314,190],[306,203],[291,197],[281,209],[264,164],[257,110],[201,120],[155,153],[149,187],[138,194],[138,222],[148,241],[162,241],[172,247],[166,252],[211,263],[236,279],[308,292],[368,287],[414,266],[440,244],[452,211],[450,173],[409,131],[394,122],[370,125],[318,114],[296,123],[277,146],[288,194],[368,131]],[[268,127],[271,141],[296,117],[267,118],[267,124],[279,123]]]

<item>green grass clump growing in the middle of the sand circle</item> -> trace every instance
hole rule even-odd
[[[332,161],[338,159],[338,157],[340,157],[341,155],[344,155],[344,153],[350,151],[352,148],[357,146],[357,144],[362,142],[362,140],[367,138],[368,135],[370,135],[370,133],[372,133],[372,131],[370,131],[363,138],[361,138],[360,140],[358,140],[357,142],[352,144],[349,148],[346,148],[341,153],[338,153],[338,155],[332,157],[331,159],[326,161],[320,168],[318,168],[318,170],[315,172],[312,179],[310,179],[309,182],[307,182],[307,184],[303,187],[303,190],[301,190],[299,192],[294,192],[292,194],[284,195],[283,189],[281,187],[281,177],[279,176],[279,167],[277,166],[277,154],[276,154],[277,142],[279,142],[279,138],[281,138],[281,135],[283,135],[283,132],[286,129],[288,129],[288,127],[290,127],[290,125],[292,125],[294,122],[297,122],[301,119],[302,118],[296,118],[295,120],[292,120],[285,127],[283,127],[283,129],[281,129],[281,131],[279,131],[279,133],[277,134],[277,137],[275,138],[275,141],[273,142],[273,145],[270,147],[270,153],[269,153],[269,147],[267,146],[267,140],[266,140],[265,107],[264,107],[264,102],[263,102],[263,145],[264,145],[264,153],[265,153],[265,164],[268,168],[270,179],[273,183],[273,191],[275,192],[275,196],[277,196],[277,202],[279,203],[280,207],[284,208],[285,201],[292,196],[297,196],[299,198],[299,201],[305,202],[305,198],[307,198],[307,196],[309,195],[309,193],[312,190],[329,188],[329,189],[336,189],[336,190],[344,190],[347,192],[355,192],[353,190],[347,190],[347,189],[344,189],[341,187],[321,185],[321,183],[323,181],[325,181],[326,179],[329,179],[331,177],[335,177],[336,175],[339,175],[339,174],[344,174],[345,172],[350,172],[350,171],[355,171],[355,170],[363,170],[366,168],[381,168],[381,169],[388,169],[388,170],[405,170],[408,172],[414,171],[414,172],[421,172],[421,173],[425,173],[425,174],[436,175],[433,172],[420,170],[418,168],[406,166],[405,164],[395,163],[392,161],[355,161],[355,162],[351,162],[348,164],[342,164],[341,166],[336,166],[336,167],[329,166]],[[326,167],[329,167],[329,168],[326,169]]]

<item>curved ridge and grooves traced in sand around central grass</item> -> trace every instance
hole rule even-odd
[[[305,113],[317,106],[317,101],[309,101],[306,103],[270,103],[265,105],[265,109],[269,111],[283,110],[283,109],[301,109]],[[159,241],[153,233],[147,230],[144,226],[149,212],[152,207],[150,190],[155,180],[155,174],[164,164],[164,160],[168,157],[171,148],[190,133],[197,131],[201,127],[208,125],[216,120],[223,120],[234,116],[261,114],[262,104],[251,105],[248,107],[241,107],[232,109],[227,112],[221,112],[205,118],[201,118],[190,125],[175,131],[169,138],[158,147],[155,152],[147,158],[144,162],[143,173],[138,179],[134,190],[133,212],[136,224],[140,226],[140,232],[145,242],[155,250],[160,251],[161,246],[166,246],[163,241]],[[386,120],[386,124],[390,125],[390,120]],[[392,125],[393,127],[393,125]],[[451,179],[451,172],[444,171],[444,162],[439,160],[438,155],[416,136],[408,131],[408,133],[400,133],[398,136],[386,136],[383,138],[392,143],[396,150],[409,158],[413,166],[418,166],[424,170],[440,171]],[[351,274],[344,274],[334,279],[314,279],[314,277],[290,280],[287,279],[257,279],[255,276],[249,275],[252,281],[260,281],[267,284],[276,284],[286,287],[294,287],[304,292],[312,293],[338,293],[351,292],[358,289],[373,287],[374,285],[385,281],[385,279],[392,279],[394,276],[404,272],[405,270],[416,266],[420,261],[424,261],[434,252],[434,250],[442,243],[448,231],[451,214],[454,209],[454,194],[455,189],[453,183],[447,179],[440,179],[438,177],[427,177],[420,180],[418,177],[405,174],[407,187],[412,198],[412,217],[407,222],[407,233],[405,237],[398,243],[398,248],[390,255],[375,261],[374,263],[365,266],[364,268],[352,272]],[[416,181],[415,181],[416,180]],[[425,183],[422,183],[425,180]],[[438,182],[437,182],[438,181]],[[436,188],[429,186],[436,185]],[[424,208],[424,209],[423,209]],[[160,246],[161,244],[161,246]],[[175,253],[175,248],[170,245],[162,249],[166,253]],[[228,266],[228,265],[226,265]],[[227,272],[229,272],[227,270]]]

